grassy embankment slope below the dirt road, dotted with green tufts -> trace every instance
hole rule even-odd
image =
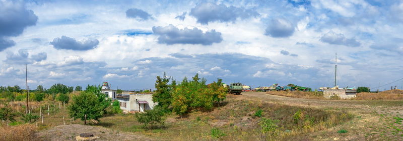
[[[310,132],[343,124],[353,118],[346,111],[326,111],[283,104],[228,98],[227,103],[213,111],[192,111],[186,118],[168,114],[164,126],[144,129],[131,114],[102,117],[102,126],[115,130],[145,134],[157,140],[256,140],[271,135],[262,132],[259,122],[263,118],[278,120],[275,136],[269,140],[301,140]],[[255,116],[261,113],[261,117]],[[261,111],[261,112],[260,112]],[[298,113],[298,119],[293,115]],[[224,135],[225,134],[225,135]],[[218,137],[219,136],[219,137]]]

